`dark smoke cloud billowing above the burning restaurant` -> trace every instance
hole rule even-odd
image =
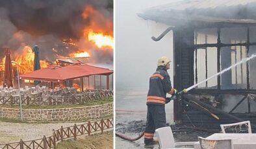
[[[43,59],[56,58],[53,48],[68,56],[77,47],[65,45],[62,40],[81,40],[84,27],[95,19],[93,16],[83,18],[84,8],[88,5],[107,20],[113,20],[113,2],[110,0],[0,0],[0,47],[8,46],[17,51],[23,45],[39,45]],[[99,26],[104,29],[105,24]],[[15,33],[20,37],[15,38]],[[0,58],[2,55],[3,51]]]

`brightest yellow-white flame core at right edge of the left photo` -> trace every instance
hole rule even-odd
[[[97,47],[111,47],[113,48],[114,46],[114,40],[113,37],[110,35],[105,35],[102,32],[94,32],[90,30],[88,33],[88,41],[94,42]]]

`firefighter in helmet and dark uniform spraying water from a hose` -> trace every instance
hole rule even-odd
[[[155,144],[153,135],[157,128],[166,126],[165,104],[170,102],[171,98],[166,98],[166,93],[175,95],[176,89],[173,89],[170,76],[167,72],[170,69],[171,60],[161,57],[158,60],[157,71],[149,79],[149,91],[147,93],[147,122],[144,133],[144,143],[146,145]]]

